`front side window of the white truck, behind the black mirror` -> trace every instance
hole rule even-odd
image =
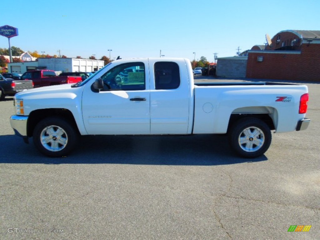
[[[104,83],[104,91],[146,89],[145,68],[142,62],[117,65],[102,75],[101,79]]]

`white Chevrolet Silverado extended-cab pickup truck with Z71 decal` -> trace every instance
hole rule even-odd
[[[242,157],[264,154],[271,130],[304,130],[308,88],[276,83],[195,84],[188,59],[116,60],[83,82],[14,97],[14,132],[47,156],[66,156],[80,135],[225,134]]]

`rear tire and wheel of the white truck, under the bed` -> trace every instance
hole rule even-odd
[[[271,131],[262,120],[245,117],[236,121],[229,130],[228,140],[235,153],[245,158],[263,155],[271,144]]]

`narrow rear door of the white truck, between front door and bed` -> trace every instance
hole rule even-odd
[[[150,59],[149,68],[153,71],[150,74],[150,133],[190,133],[189,115],[193,109],[189,109],[191,96],[186,64]]]

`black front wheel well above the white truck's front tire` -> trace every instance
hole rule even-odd
[[[65,120],[67,120],[73,126],[76,125],[76,120],[72,115],[71,111],[63,108],[47,108],[47,109],[38,109],[32,111],[28,116],[28,125],[27,125],[27,136],[32,137],[33,130],[38,122],[42,119],[49,116],[59,116]],[[76,129],[78,129],[76,127]]]

